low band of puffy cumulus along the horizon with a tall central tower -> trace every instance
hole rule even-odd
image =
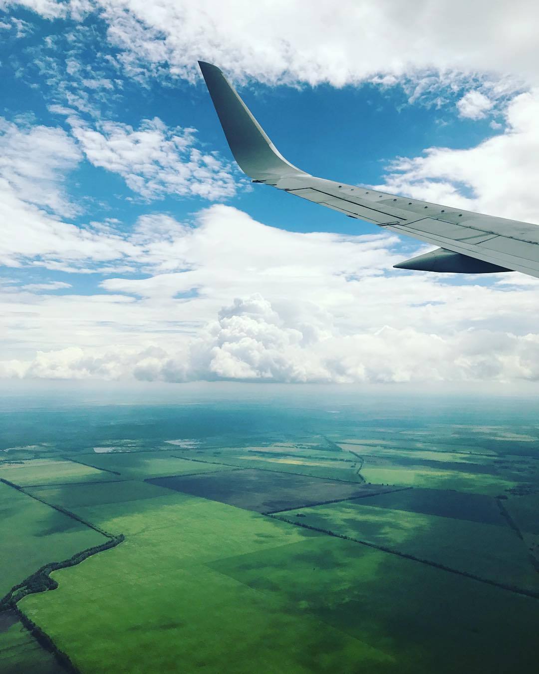
[[[0,376],[142,381],[409,383],[539,379],[539,336],[466,330],[446,335],[391,328],[315,338],[286,324],[261,295],[236,299],[183,353],[64,348],[0,362]]]

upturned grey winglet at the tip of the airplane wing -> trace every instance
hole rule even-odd
[[[220,69],[204,61],[198,65],[241,170],[255,181],[269,183],[284,176],[307,175],[282,156]]]

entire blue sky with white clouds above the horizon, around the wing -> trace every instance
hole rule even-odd
[[[393,270],[429,247],[252,185],[197,60],[313,175],[538,223],[538,22],[0,0],[0,379],[530,386],[539,280]]]

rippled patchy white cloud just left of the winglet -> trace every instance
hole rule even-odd
[[[139,129],[113,121],[91,127],[75,115],[67,122],[94,166],[118,173],[145,199],[172,194],[216,200],[236,191],[230,164],[197,148],[196,129],[169,129],[158,117],[142,121]]]

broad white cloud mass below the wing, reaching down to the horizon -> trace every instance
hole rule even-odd
[[[146,216],[126,243],[145,278],[87,296],[5,293],[5,376],[539,378],[539,286],[518,274],[384,274],[395,237],[286,232],[226,206],[192,225]]]

